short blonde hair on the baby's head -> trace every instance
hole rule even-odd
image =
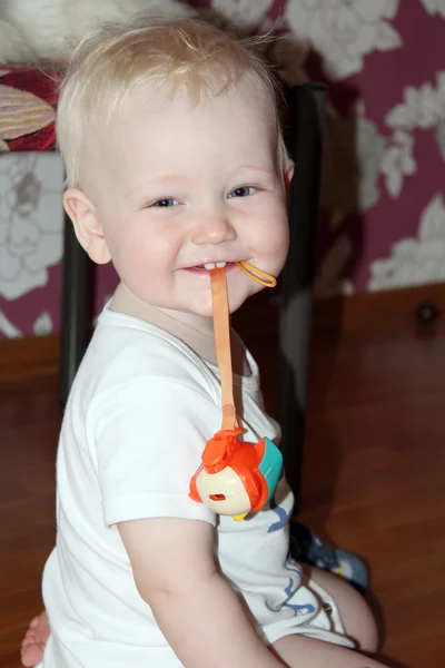
[[[148,85],[185,86],[198,102],[202,95],[219,95],[253,77],[275,109],[281,144],[279,89],[259,52],[265,40],[236,40],[196,19],[105,24],[86,37],[67,68],[57,111],[68,187],[79,186],[80,157],[95,121],[106,127],[131,92]]]

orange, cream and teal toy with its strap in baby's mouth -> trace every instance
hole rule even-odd
[[[274,276],[248,263],[237,265],[261,285],[274,287],[277,283]],[[190,497],[218,514],[243,520],[273,498],[281,475],[283,455],[267,438],[258,443],[239,440],[244,430],[238,426],[234,402],[226,269],[210,269],[210,279],[222,428],[204,449],[202,464],[190,480]]]

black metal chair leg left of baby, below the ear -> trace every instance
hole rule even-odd
[[[65,404],[89,337],[91,263],[65,214],[59,396]]]

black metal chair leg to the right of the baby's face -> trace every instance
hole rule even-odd
[[[289,255],[283,275],[278,416],[286,474],[299,502],[305,434],[307,365],[323,159],[326,87],[296,86],[289,95],[295,161],[289,191]]]

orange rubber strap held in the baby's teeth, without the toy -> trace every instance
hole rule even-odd
[[[236,264],[245,274],[247,274],[247,276],[249,276],[249,278],[253,278],[261,285],[274,287],[277,284],[277,281],[274,276],[270,276],[270,274],[267,274],[261,269],[257,269],[254,267],[254,265],[247,262],[237,262]],[[227,295],[226,269],[224,267],[210,269],[210,281],[216,358],[221,380],[222,429],[233,430],[238,426],[238,421],[234,400],[234,375],[231,370],[230,350],[230,315]]]

